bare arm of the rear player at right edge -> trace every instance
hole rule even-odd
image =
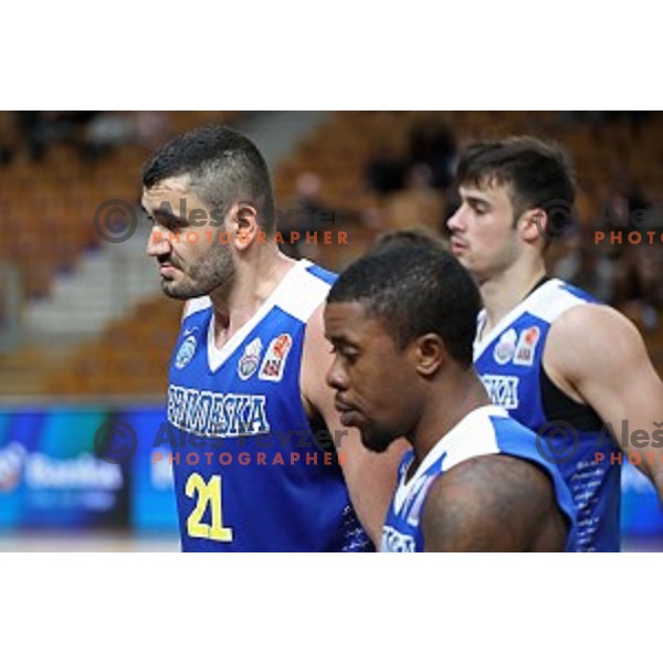
[[[641,454],[639,469],[663,498],[663,383],[635,325],[608,306],[572,308],[552,324],[544,362],[571,398],[610,424],[625,452]],[[636,430],[645,433],[635,439]]]

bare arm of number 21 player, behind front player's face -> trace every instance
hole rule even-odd
[[[357,429],[341,425],[340,415],[334,408],[334,391],[325,380],[334,357],[332,345],[324,335],[323,309],[320,306],[315,311],[306,327],[302,393],[308,409],[319,413],[332,435],[340,441],[337,452],[350,501],[361,525],[378,545],[407,443],[394,442],[386,453],[372,453],[361,444]]]

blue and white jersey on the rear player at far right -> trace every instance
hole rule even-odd
[[[601,432],[600,419],[589,408],[586,411],[592,413],[593,423],[573,422],[564,413],[547,413],[543,394],[543,386],[550,385],[543,369],[550,325],[588,302],[593,298],[583,291],[558,278],[546,281],[484,338],[477,336],[474,366],[493,402],[540,435],[541,455],[555,462],[564,475],[578,508],[576,550],[617,551],[621,467],[610,461],[613,442]],[[480,330],[485,315],[485,311],[480,314]],[[579,409],[570,399],[567,403]]]

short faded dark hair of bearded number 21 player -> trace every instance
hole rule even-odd
[[[222,125],[180,134],[164,145],[143,167],[143,186],[150,189],[188,175],[191,188],[223,215],[233,203],[250,202],[267,234],[274,231],[274,194],[270,172],[257,147],[245,136]]]

